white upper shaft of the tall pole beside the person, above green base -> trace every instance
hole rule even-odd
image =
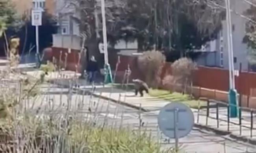
[[[101,14],[102,14],[102,32],[103,32],[103,44],[104,44],[104,60],[105,64],[108,64],[108,40],[107,40],[107,28],[106,28],[106,16],[105,16],[105,0],[101,0]]]

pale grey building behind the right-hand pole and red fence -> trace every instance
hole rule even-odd
[[[243,17],[244,12],[250,8],[250,4],[244,0],[231,0],[231,20],[232,20],[232,38],[234,53],[234,69],[239,70],[240,64],[244,71],[248,70],[248,50],[247,44],[243,43],[246,35],[245,24],[248,21]],[[224,6],[224,4],[223,4]],[[210,48],[216,47],[214,53],[208,48],[202,51],[202,55],[197,59],[198,65],[223,67],[228,69],[228,39],[226,19],[222,21],[222,29],[214,43],[210,43]],[[207,46],[207,45],[206,45]],[[209,46],[209,45],[208,45]]]

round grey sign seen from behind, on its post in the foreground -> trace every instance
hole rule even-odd
[[[172,102],[161,109],[158,126],[165,136],[175,139],[175,149],[178,151],[179,138],[185,137],[193,129],[194,114],[188,106]]]

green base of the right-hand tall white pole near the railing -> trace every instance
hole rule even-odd
[[[237,91],[236,89],[230,89],[228,94],[228,100],[230,104],[230,117],[237,117]]]

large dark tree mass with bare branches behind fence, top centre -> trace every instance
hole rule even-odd
[[[208,3],[223,0],[108,0],[106,18],[108,39],[111,44],[119,39],[139,42],[139,50],[176,50],[180,56],[198,49],[215,39],[221,29],[224,13]],[[100,2],[96,0],[72,0],[82,14],[81,31],[88,39],[95,40],[95,32],[101,34],[101,23],[96,26],[95,10],[101,20]],[[98,27],[98,28],[97,28]]]

